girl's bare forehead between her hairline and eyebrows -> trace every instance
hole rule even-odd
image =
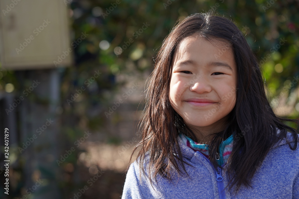
[[[178,60],[188,59],[192,56],[211,57],[216,60],[224,54],[233,57],[233,49],[228,41],[220,38],[209,38],[208,40],[199,34],[194,34],[179,42],[175,49],[172,65]]]

